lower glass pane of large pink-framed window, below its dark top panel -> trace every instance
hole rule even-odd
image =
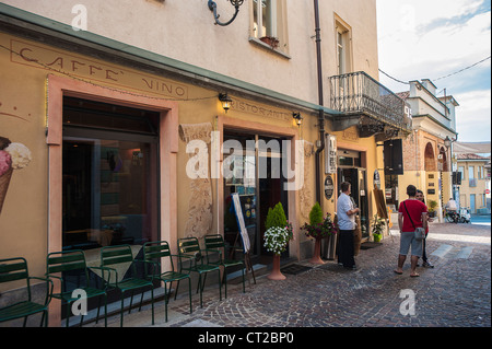
[[[155,239],[155,146],[109,139],[63,141],[63,247],[91,249]]]

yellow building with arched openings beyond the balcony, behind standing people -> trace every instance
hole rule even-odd
[[[424,193],[427,206],[442,208],[453,197],[452,149],[446,138],[456,140],[456,112],[459,105],[453,96],[437,96],[437,88],[429,79],[410,81],[410,90],[398,93],[412,110],[413,132],[402,141],[405,174],[386,175],[386,199],[398,209],[407,198],[407,186],[412,184]]]

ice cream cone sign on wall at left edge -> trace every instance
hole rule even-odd
[[[24,168],[30,162],[31,151],[27,147],[0,137],[0,214],[13,171]]]

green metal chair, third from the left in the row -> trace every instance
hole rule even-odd
[[[109,288],[118,289],[121,292],[121,312],[120,312],[120,326],[122,327],[124,319],[124,301],[125,293],[131,291],[130,307],[128,313],[131,312],[131,304],[133,303],[133,292],[138,289],[144,289],[147,287],[151,290],[152,302],[152,325],[154,325],[154,284],[152,280],[147,280],[137,277],[136,261],[143,261],[133,258],[130,245],[117,245],[106,246],[101,248],[101,268],[103,269],[103,279],[106,286]],[[129,264],[131,276],[125,278],[125,276],[118,276],[118,270],[115,268],[117,265]],[[110,266],[110,267],[108,267]],[[107,271],[107,277],[106,277]],[[140,298],[139,312],[142,309],[143,290]]]

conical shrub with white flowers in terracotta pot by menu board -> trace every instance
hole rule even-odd
[[[273,269],[267,277],[270,280],[284,280],[285,276],[280,271],[280,255],[286,249],[289,241],[293,236],[292,224],[286,220],[282,203],[273,209],[268,209],[265,222],[265,247],[273,253]]]

